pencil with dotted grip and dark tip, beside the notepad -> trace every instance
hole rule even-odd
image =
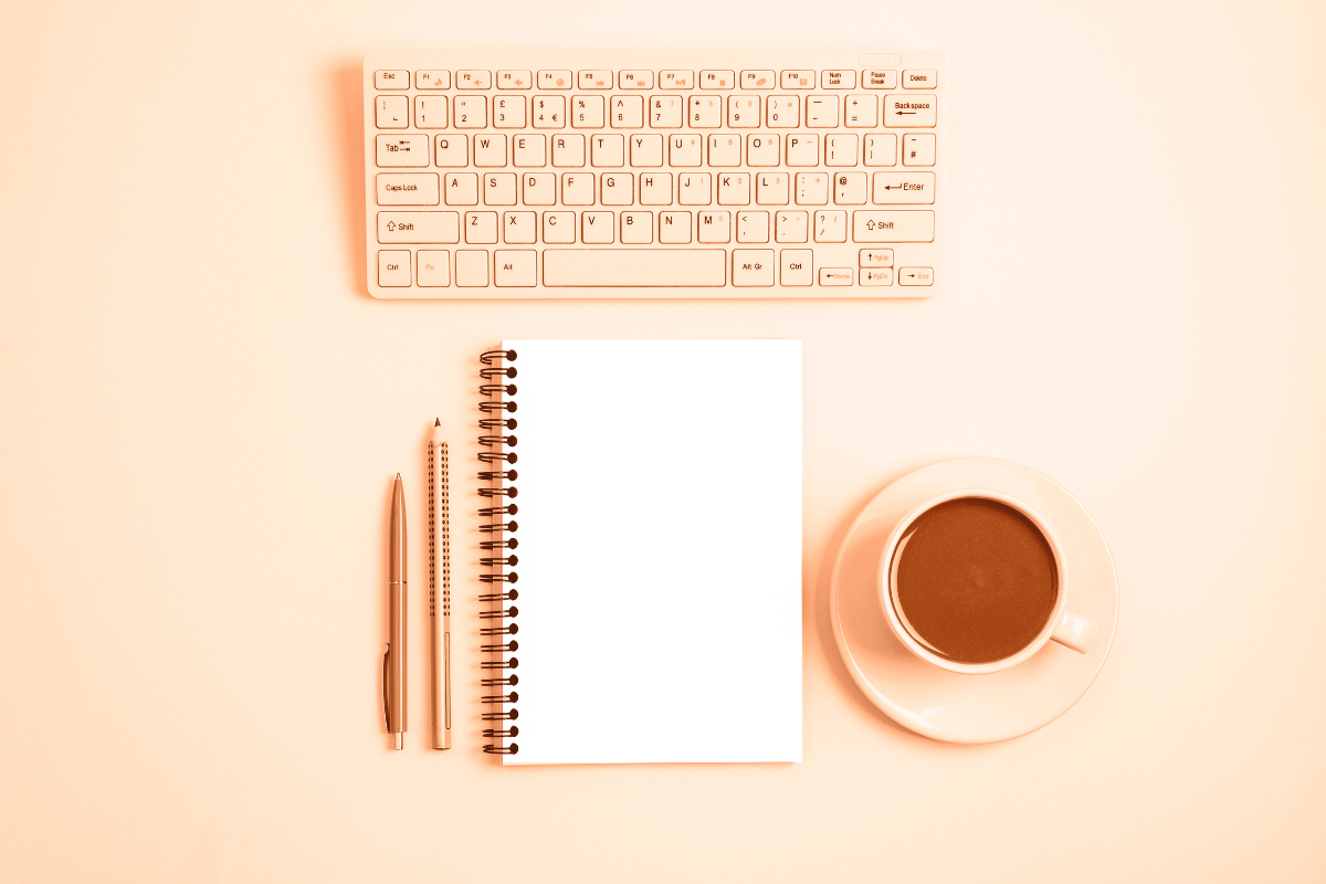
[[[451,512],[447,440],[442,421],[428,443],[428,627],[431,637],[432,747],[451,749]],[[440,571],[440,574],[439,574]],[[438,596],[439,578],[442,598]],[[440,610],[439,610],[440,608]]]

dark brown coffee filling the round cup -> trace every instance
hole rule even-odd
[[[891,569],[908,631],[955,663],[1013,656],[1045,628],[1058,596],[1054,551],[1041,529],[1012,506],[980,497],[923,513]]]

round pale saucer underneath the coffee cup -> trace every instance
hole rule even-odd
[[[959,675],[898,640],[879,603],[879,557],[899,520],[955,489],[1002,492],[1042,516],[1063,547],[1067,608],[1099,628],[1087,653],[1049,641],[1009,669]],[[1067,490],[1012,461],[964,457],[907,473],[866,504],[838,551],[829,604],[847,671],[890,718],[934,740],[997,742],[1048,725],[1091,687],[1114,641],[1119,588],[1101,529]]]

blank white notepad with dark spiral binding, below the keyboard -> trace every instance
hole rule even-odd
[[[480,362],[484,750],[801,761],[801,342]]]

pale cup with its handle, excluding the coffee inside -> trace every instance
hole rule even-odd
[[[899,546],[907,537],[908,529],[918,518],[935,506],[968,497],[994,501],[1013,508],[1036,525],[1037,529],[1040,529],[1041,535],[1045,538],[1046,543],[1049,543],[1050,551],[1054,554],[1054,606],[1050,610],[1050,616],[1046,619],[1045,626],[1029,644],[1022,647],[1021,651],[992,663],[957,663],[935,653],[926,644],[918,640],[918,637],[908,628],[907,618],[898,602],[898,563],[902,559],[898,553]],[[898,522],[892,533],[888,535],[888,542],[884,543],[884,553],[879,559],[878,586],[880,606],[884,608],[884,616],[888,619],[888,626],[898,636],[898,640],[922,660],[932,663],[941,669],[948,669],[949,672],[984,675],[987,672],[1008,669],[1029,659],[1045,647],[1046,641],[1052,640],[1058,641],[1078,653],[1086,653],[1091,648],[1091,643],[1095,640],[1095,624],[1067,610],[1067,567],[1063,559],[1063,547],[1059,545],[1059,539],[1054,535],[1054,531],[1050,530],[1050,526],[1046,525],[1045,520],[1041,518],[1040,513],[1022,501],[1000,492],[984,488],[963,488],[949,490],[926,501],[907,513],[907,516]]]

